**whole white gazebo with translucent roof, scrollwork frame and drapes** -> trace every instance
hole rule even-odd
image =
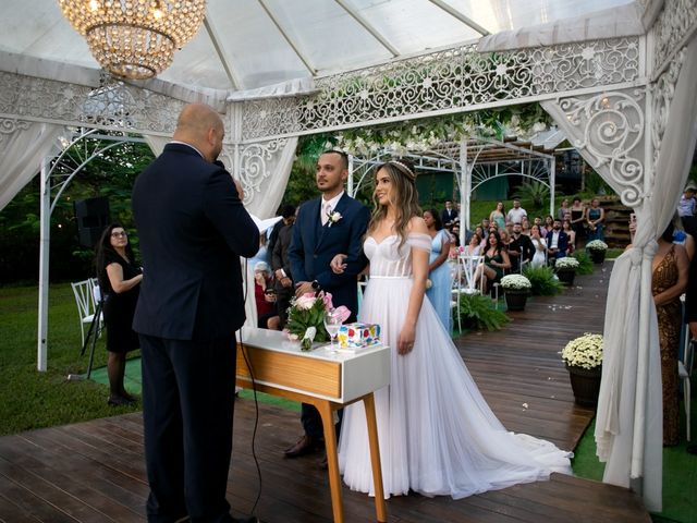
[[[201,31],[159,78],[117,83],[100,77],[56,2],[2,2],[0,202],[41,166],[39,368],[49,168],[66,125],[142,134],[158,147],[183,104],[211,104],[224,114],[222,159],[264,218],[283,194],[298,136],[540,102],[639,219],[635,247],[610,283],[622,292],[610,293],[607,306],[596,438],[604,479],[625,487],[645,479],[645,502],[660,511],[650,266],[697,141],[697,0],[207,4]]]

